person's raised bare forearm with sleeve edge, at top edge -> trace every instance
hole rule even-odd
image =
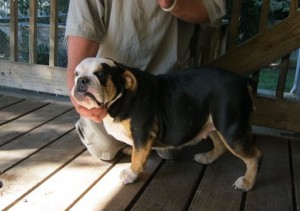
[[[175,0],[157,0],[160,7],[171,8]],[[175,7],[170,11],[175,17],[190,22],[190,23],[209,23],[211,21],[207,6],[210,8],[210,12],[214,12],[214,16],[223,16],[225,12],[225,0],[217,0],[208,3],[204,3],[204,0],[177,0]],[[206,0],[206,2],[208,2]]]

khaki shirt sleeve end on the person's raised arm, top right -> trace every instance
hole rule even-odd
[[[226,14],[226,1],[225,0],[202,0],[209,15],[211,23],[215,23]]]

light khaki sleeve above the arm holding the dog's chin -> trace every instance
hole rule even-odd
[[[102,0],[71,0],[65,36],[79,36],[101,42],[105,35],[107,9]]]

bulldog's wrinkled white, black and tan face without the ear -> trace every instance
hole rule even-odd
[[[76,67],[71,94],[79,105],[88,109],[101,107],[115,96],[110,68],[117,68],[116,63],[105,58],[87,58]]]

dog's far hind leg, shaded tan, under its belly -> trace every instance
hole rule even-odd
[[[209,152],[194,155],[194,159],[198,163],[210,164],[223,155],[227,150],[217,131],[212,131],[209,134],[209,137],[213,141],[214,148]]]

